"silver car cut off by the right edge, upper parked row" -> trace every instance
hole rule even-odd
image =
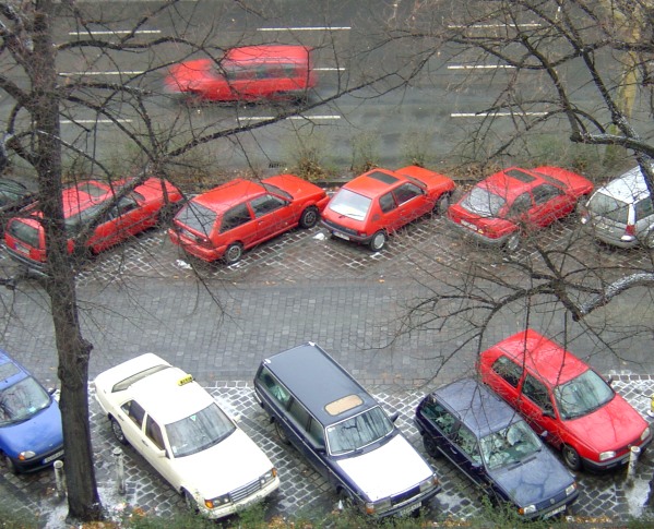
[[[595,191],[581,223],[607,244],[654,248],[654,205],[640,167]]]

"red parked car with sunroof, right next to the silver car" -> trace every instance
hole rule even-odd
[[[510,167],[478,182],[448,209],[464,235],[490,245],[520,248],[523,232],[544,228],[585,202],[593,183],[559,167]]]

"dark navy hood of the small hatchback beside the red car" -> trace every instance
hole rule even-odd
[[[572,474],[545,447],[520,465],[489,470],[488,474],[520,507],[555,497],[574,482]]]

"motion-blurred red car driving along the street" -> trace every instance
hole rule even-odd
[[[169,93],[210,101],[301,99],[316,86],[311,50],[304,46],[247,46],[219,62],[195,59],[170,68]]]

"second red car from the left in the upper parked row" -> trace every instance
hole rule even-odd
[[[239,178],[189,201],[168,233],[195,257],[234,264],[260,242],[316,226],[328,200],[323,189],[294,175],[261,182]]]

